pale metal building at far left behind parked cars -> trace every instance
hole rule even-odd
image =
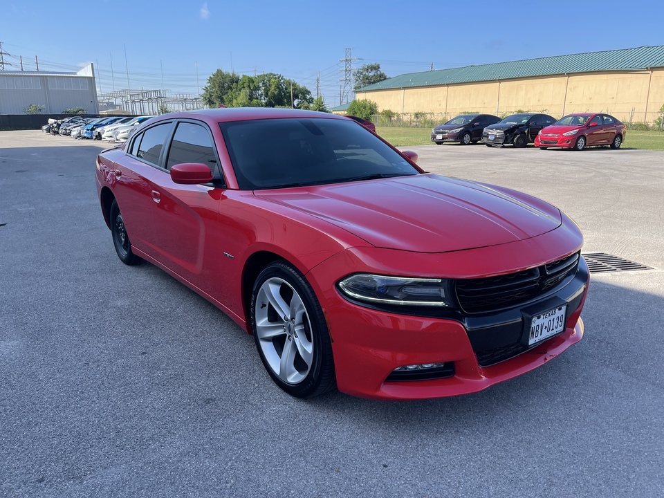
[[[23,114],[33,104],[44,114],[75,107],[99,113],[93,64],[77,73],[0,71],[0,114]]]

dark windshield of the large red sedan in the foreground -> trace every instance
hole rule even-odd
[[[242,190],[420,173],[351,120],[282,118],[221,122],[219,127]]]

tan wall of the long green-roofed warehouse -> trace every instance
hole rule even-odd
[[[623,121],[652,122],[664,104],[664,68],[652,71],[531,77],[444,86],[360,92],[380,111],[506,114],[541,111],[556,118],[571,112],[606,112]]]

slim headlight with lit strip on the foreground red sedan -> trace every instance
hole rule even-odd
[[[344,278],[339,288],[351,299],[378,306],[454,306],[449,282],[443,279],[358,273]]]

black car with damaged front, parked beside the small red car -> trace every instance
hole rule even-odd
[[[513,144],[514,147],[526,147],[528,142],[535,141],[537,133],[540,133],[542,128],[553,122],[555,118],[548,114],[513,114],[484,129],[482,141],[487,147],[503,147],[508,144]]]

